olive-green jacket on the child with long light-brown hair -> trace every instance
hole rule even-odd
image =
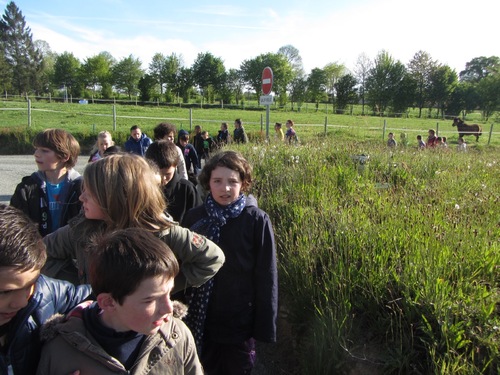
[[[79,216],[57,231],[45,236],[48,260],[42,273],[53,277],[88,284],[86,248],[93,235],[102,232],[104,223]],[[221,248],[206,237],[180,225],[172,224],[157,233],[174,252],[180,272],[175,278],[172,294],[190,286],[200,286],[210,280],[222,267],[225,257]],[[66,275],[68,263],[75,265],[78,277]],[[71,264],[70,264],[71,265]],[[66,267],[66,268],[65,268]]]

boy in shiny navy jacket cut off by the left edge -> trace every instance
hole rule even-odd
[[[91,293],[88,285],[40,275],[46,258],[36,226],[17,208],[0,204],[0,374],[35,374],[40,326]]]

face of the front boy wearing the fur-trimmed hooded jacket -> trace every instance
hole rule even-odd
[[[114,301],[111,309],[105,308],[104,322],[118,332],[155,334],[163,323],[172,319],[170,292],[173,287],[174,280],[165,276],[144,279],[134,293],[125,297],[122,305]]]

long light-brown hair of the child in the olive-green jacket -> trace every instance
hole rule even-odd
[[[108,230],[130,227],[156,232],[172,224],[154,171],[134,154],[114,154],[88,164],[83,188],[106,215]]]

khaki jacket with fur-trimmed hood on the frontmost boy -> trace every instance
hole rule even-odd
[[[37,374],[71,374],[76,370],[81,375],[203,374],[193,336],[179,319],[185,313],[184,305],[174,301],[174,318],[146,337],[129,371],[89,333],[78,309],[66,318],[55,316],[44,325],[41,336],[46,342]]]

